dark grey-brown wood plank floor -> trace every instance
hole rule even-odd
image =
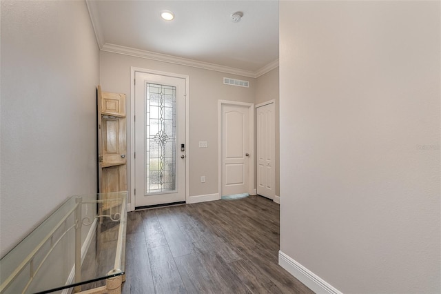
[[[278,266],[279,207],[249,196],[128,213],[123,293],[313,293]]]

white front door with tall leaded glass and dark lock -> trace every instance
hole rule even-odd
[[[185,202],[186,80],[135,72],[135,207]]]

